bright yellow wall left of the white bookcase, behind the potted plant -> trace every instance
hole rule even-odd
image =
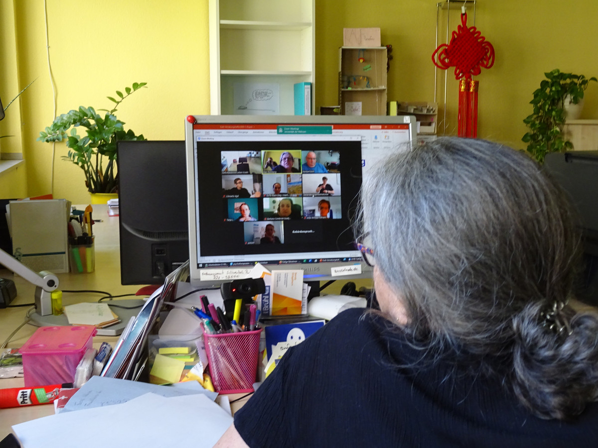
[[[106,96],[133,82],[148,88],[123,102],[116,115],[147,139],[182,140],[185,116],[209,113],[208,0],[48,1],[56,113],[44,1],[14,1],[14,9],[20,85],[37,78],[22,96],[29,195],[51,191],[52,145],[36,139],[55,115],[80,105],[110,109]],[[83,171],[63,155],[66,146],[57,144],[54,197],[89,202]]]

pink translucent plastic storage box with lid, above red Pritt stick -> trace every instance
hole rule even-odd
[[[23,355],[25,387],[72,383],[77,365],[91,348],[96,327],[39,327],[25,345]]]

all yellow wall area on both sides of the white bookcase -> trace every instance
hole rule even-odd
[[[16,69],[20,88],[37,78],[22,96],[22,146],[28,194],[45,194],[51,190],[52,149],[36,138],[55,113],[47,66],[44,1],[1,3],[3,7],[14,5],[18,67],[4,51],[1,66]],[[56,114],[79,105],[110,108],[106,96],[133,82],[148,82],[148,88],[127,99],[117,116],[148,139],[183,139],[185,115],[209,113],[208,0],[60,0],[47,4]],[[436,4],[436,0],[316,0],[315,110],[338,102],[338,47],[343,43],[343,27],[380,27],[382,43],[393,45],[389,99],[434,100],[431,55],[435,49]],[[451,11],[451,31],[457,26],[459,12]],[[524,148],[521,136],[526,128],[522,120],[531,112],[529,100],[544,72],[559,68],[598,75],[598,59],[593,56],[598,42],[598,3],[478,0],[476,12],[476,26],[496,51],[495,65],[477,78],[478,136]],[[471,10],[469,14],[471,24]],[[446,12],[440,18],[444,38]],[[2,82],[7,78],[0,76]],[[456,134],[457,84],[451,71],[448,78],[447,133]],[[438,79],[438,100],[442,103],[444,72],[438,73]],[[191,82],[194,88],[189,87]],[[0,85],[3,98],[10,94],[4,90]],[[591,84],[586,92],[582,118],[598,118],[598,83]],[[65,154],[65,146],[57,145],[54,196],[87,202],[83,173],[60,160]],[[1,187],[0,197],[4,196]]]

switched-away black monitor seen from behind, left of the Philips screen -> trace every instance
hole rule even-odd
[[[184,141],[118,142],[121,283],[162,284],[189,258]]]

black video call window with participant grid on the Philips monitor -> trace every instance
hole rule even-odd
[[[353,248],[361,142],[196,144],[201,256],[264,254],[269,263],[279,260],[267,254]]]

